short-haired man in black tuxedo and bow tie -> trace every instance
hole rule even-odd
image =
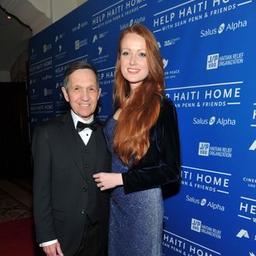
[[[102,126],[94,119],[101,92],[97,71],[85,62],[71,64],[62,92],[71,111],[33,134],[36,240],[49,256],[106,255],[109,194],[92,178],[110,170]]]

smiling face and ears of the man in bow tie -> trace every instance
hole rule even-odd
[[[101,89],[97,87],[95,73],[78,69],[69,76],[68,89],[61,88],[71,109],[82,119],[88,120],[95,112]]]

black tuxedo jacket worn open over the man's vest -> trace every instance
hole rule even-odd
[[[110,155],[102,125],[95,133],[97,156],[93,171],[110,171]],[[80,140],[80,141],[79,141]],[[78,249],[85,228],[86,201],[90,194],[85,177],[81,137],[74,128],[71,112],[36,126],[33,134],[34,164],[33,206],[36,241],[58,239],[64,255]],[[95,184],[96,186],[96,184]],[[101,244],[107,246],[109,192],[96,192],[96,219],[99,221]]]

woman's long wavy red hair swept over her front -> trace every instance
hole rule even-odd
[[[149,74],[142,84],[130,96],[129,82],[123,78],[119,58],[121,43],[127,33],[137,33],[146,42],[146,56]],[[161,99],[164,92],[164,67],[157,40],[154,35],[141,24],[125,29],[119,37],[119,51],[116,61],[115,87],[113,102],[116,109],[122,109],[116,123],[113,141],[114,150],[126,164],[137,164],[147,153],[150,146],[150,128],[157,122]]]

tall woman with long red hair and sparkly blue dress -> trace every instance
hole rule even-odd
[[[175,106],[164,97],[161,54],[143,25],[119,38],[113,99],[117,110],[105,128],[112,173],[93,176],[100,190],[113,189],[109,256],[160,256],[161,185],[178,181],[180,150]]]

